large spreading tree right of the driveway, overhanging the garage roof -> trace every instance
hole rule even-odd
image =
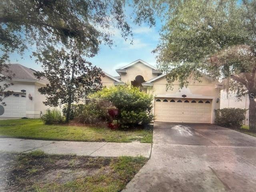
[[[193,76],[226,79],[227,88],[250,96],[250,130],[256,131],[256,1],[171,1],[161,39],[154,50],[168,72],[167,88]]]

